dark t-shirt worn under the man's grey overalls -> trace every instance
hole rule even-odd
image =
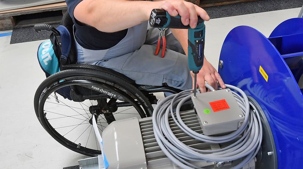
[[[65,0],[75,27],[75,38],[79,45],[86,49],[102,50],[109,49],[119,43],[127,33],[127,29],[114,33],[106,33],[88,25],[81,24],[74,18],[74,9],[82,0]]]

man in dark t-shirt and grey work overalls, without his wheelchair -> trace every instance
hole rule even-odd
[[[182,0],[66,2],[76,28],[78,63],[113,69],[137,84],[161,86],[166,83],[181,90],[193,87],[193,74],[188,70],[184,55],[187,53],[187,30],[166,31],[168,49],[165,57],[161,58],[154,54],[159,30],[148,29],[148,20],[152,9],[163,8],[172,16],[180,14],[183,24],[194,28],[197,15],[209,20],[202,8]],[[206,91],[205,81],[214,88],[217,88],[217,81],[224,85],[216,69],[206,59],[197,76],[202,91]]]

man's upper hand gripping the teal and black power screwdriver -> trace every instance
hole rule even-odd
[[[205,21],[209,20],[209,16],[204,9],[183,0],[165,0],[162,2],[160,8],[168,11],[171,16],[177,16],[179,14],[181,16],[182,24],[189,24],[191,28],[197,26],[197,16],[200,16]]]

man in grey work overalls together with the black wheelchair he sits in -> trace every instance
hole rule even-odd
[[[35,27],[53,32],[51,42],[39,47],[40,65],[48,65],[43,59],[55,60],[45,59],[54,49],[61,70],[46,73],[49,77],[35,94],[35,112],[46,131],[62,145],[94,156],[101,151],[92,132],[93,114],[102,132],[115,120],[151,116],[151,104],[157,103],[153,92],[176,93],[194,86],[193,73],[188,69],[187,30],[166,30],[165,56],[155,56],[159,30],[148,25],[151,10],[162,8],[171,16],[179,14],[182,23],[191,28],[196,27],[197,16],[206,21],[209,16],[183,0],[66,2],[68,12],[62,20],[65,27]],[[225,88],[204,57],[197,74],[201,92],[206,92],[205,81],[215,89],[218,83]]]

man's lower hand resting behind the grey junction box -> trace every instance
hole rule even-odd
[[[192,77],[192,88],[194,88],[194,76],[195,74],[191,72],[191,77]],[[221,76],[217,72],[217,70],[206,60],[204,57],[204,63],[197,74],[197,87],[200,88],[200,91],[202,93],[206,92],[205,88],[205,81],[208,82],[209,85],[211,85],[213,88],[216,90],[218,89],[218,83],[220,84],[221,88],[226,88]],[[217,82],[218,81],[218,82]]]

